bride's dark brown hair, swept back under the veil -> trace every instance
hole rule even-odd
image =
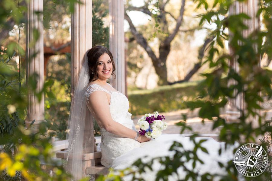
[[[112,53],[106,47],[101,46],[101,45],[97,45],[97,46],[92,47],[87,53],[90,81],[92,81],[92,79],[95,76],[96,76],[95,80],[98,79],[98,74],[96,72],[96,68],[98,66],[98,61],[99,61],[100,56],[102,56],[104,53],[107,53],[108,56],[110,57],[110,59],[112,60],[112,75],[114,76],[113,80],[115,80],[115,74],[113,73],[115,71],[115,64],[113,61]]]

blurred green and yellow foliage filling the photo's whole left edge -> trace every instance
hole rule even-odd
[[[65,2],[73,4],[78,1]],[[25,2],[21,0],[1,1],[0,30],[10,30],[14,24],[25,22],[25,8]],[[72,9],[73,5],[70,7],[70,10]],[[34,30],[34,40],[37,40],[38,33],[36,32]],[[1,37],[1,40],[5,38]],[[1,42],[0,47],[0,180],[21,180],[22,177],[30,181],[70,180],[72,177],[63,167],[57,166],[60,164],[52,160],[52,145],[50,145],[50,138],[45,135],[49,125],[39,124],[39,127],[35,128],[37,133],[34,133],[32,124],[35,120],[33,120],[31,125],[25,128],[24,120],[29,92],[38,100],[41,100],[43,95],[51,99],[55,97],[50,91],[53,86],[52,79],[45,81],[40,91],[36,89],[39,78],[37,74],[34,73],[27,81],[25,80],[24,66],[20,65],[20,57],[18,59],[16,56],[16,54],[23,54],[24,51],[18,44],[7,42],[3,47]],[[34,42],[31,44],[33,45]],[[41,169],[42,164],[50,164],[55,174],[50,176],[45,173]]]

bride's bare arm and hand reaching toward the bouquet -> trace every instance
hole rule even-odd
[[[89,103],[87,106],[89,110],[92,112],[93,116],[96,120],[99,121],[99,124],[108,132],[126,137],[126,138],[135,138],[136,132],[132,129],[121,125],[118,122],[115,122],[112,119],[112,115],[108,106],[108,98],[107,93],[104,91],[95,91],[89,96]],[[137,139],[139,142],[149,141],[150,138],[147,138],[144,135],[139,135]]]

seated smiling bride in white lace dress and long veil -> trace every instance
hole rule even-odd
[[[73,94],[68,123],[69,146],[64,166],[72,173],[74,179],[78,180],[86,175],[81,166],[84,160],[82,153],[96,151],[92,131],[93,118],[101,128],[101,164],[108,168],[124,169],[144,156],[147,160],[173,156],[173,151],[169,151],[173,141],[182,143],[184,149],[193,150],[193,141],[188,137],[183,138],[182,135],[161,135],[156,140],[139,135],[128,112],[127,97],[107,83],[111,75],[115,77],[112,53],[103,46],[95,46],[86,53],[86,59]],[[196,141],[200,139],[203,138],[196,138]],[[222,172],[216,162],[220,160],[226,163],[232,159],[231,152],[226,151],[224,156],[218,154],[222,144],[212,138],[205,141],[202,145],[209,154],[197,151],[204,164],[196,164],[195,169],[200,173]],[[89,166],[95,168],[94,163],[95,160],[89,163]],[[155,180],[157,171],[163,169],[158,163],[154,163],[152,167],[153,171],[149,170],[143,174],[146,180]],[[188,165],[188,169],[193,169],[189,167]],[[180,169],[176,179],[184,179],[184,174]]]

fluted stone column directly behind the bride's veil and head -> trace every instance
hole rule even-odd
[[[75,11],[71,16],[71,96],[76,86],[79,71],[85,61],[86,52],[92,48],[92,1],[81,0],[83,4],[75,4]],[[92,121],[92,120],[90,120]],[[90,127],[86,121],[85,128]],[[88,143],[89,129],[84,132],[84,143]],[[95,144],[96,140],[94,140]],[[96,145],[94,147],[96,151]],[[92,146],[83,150],[92,152]]]

